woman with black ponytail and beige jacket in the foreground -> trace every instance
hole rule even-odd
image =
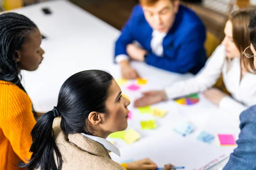
[[[123,164],[108,152],[119,149],[106,140],[127,127],[130,101],[105,71],[74,74],[61,87],[57,106],[38,119],[31,132],[33,153],[28,170],[156,170],[149,159]],[[59,117],[61,118],[56,118]],[[166,165],[163,170],[169,170]]]

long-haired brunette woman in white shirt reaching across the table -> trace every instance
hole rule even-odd
[[[230,15],[224,28],[224,40],[195,77],[176,82],[162,91],[144,92],[134,102],[134,106],[152,105],[204,91],[207,99],[235,114],[238,119],[241,111],[256,103],[256,68],[253,66],[253,58],[242,55],[244,49],[250,45],[250,29],[247,26],[252,10],[253,8],[241,9]],[[221,74],[232,97],[212,88]]]

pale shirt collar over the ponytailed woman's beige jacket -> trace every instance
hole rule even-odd
[[[102,144],[102,146],[105,147],[107,150],[109,150],[109,151],[115,153],[116,155],[120,156],[120,151],[119,151],[118,147],[116,147],[114,144],[109,142],[107,139],[100,138],[100,137],[97,137],[97,136],[87,135],[85,133],[81,133],[81,134],[84,135],[87,138],[90,138],[90,139],[94,140],[95,142],[98,142],[99,144]]]

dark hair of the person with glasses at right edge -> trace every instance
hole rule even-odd
[[[256,49],[256,8],[250,14],[249,26],[250,29],[250,42],[252,43],[254,49]]]

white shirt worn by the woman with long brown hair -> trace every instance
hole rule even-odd
[[[256,74],[246,73],[240,81],[241,67],[239,57],[230,60],[226,59],[226,51],[223,45],[219,45],[212,56],[207,60],[201,71],[191,79],[176,82],[165,89],[168,99],[175,99],[180,96],[205,91],[211,88],[223,75],[223,81],[232,97],[226,96],[221,99],[219,107],[239,115],[249,106],[256,104]]]

